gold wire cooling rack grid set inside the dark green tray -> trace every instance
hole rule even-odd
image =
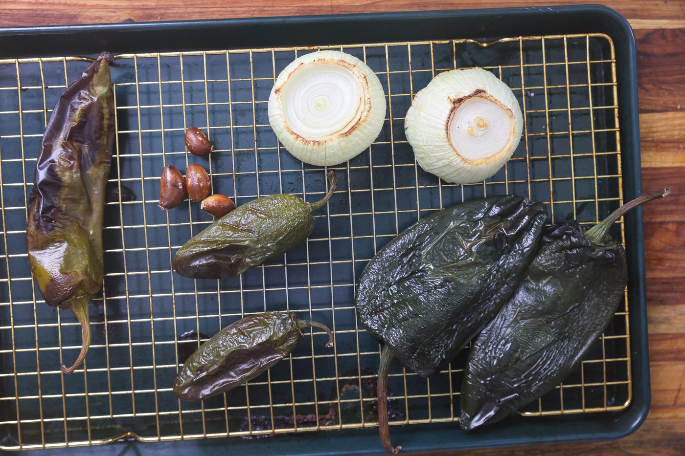
[[[205,166],[214,192],[238,204],[278,192],[316,201],[325,192],[325,170],[282,149],[266,116],[279,71],[316,49],[351,53],[377,73],[388,99],[382,134],[368,151],[331,168],[338,190],[315,214],[306,242],[240,277],[175,275],[173,253],[212,219],[197,204],[156,207],[164,164]],[[92,346],[83,366],[64,376],[59,364],[75,358],[79,328],[73,315],[47,307],[33,286],[25,206],[49,108],[84,60],[0,60],[3,450],[127,436],[160,441],[375,427],[374,392],[365,385],[375,378],[378,345],[360,327],[353,296],[355,278],[377,249],[419,218],[486,194],[543,201],[551,222],[593,224],[623,203],[616,62],[603,34],[119,55],[112,66],[117,136],[110,182],[137,198],[105,208],[105,280],[103,295],[91,303]],[[486,182],[447,184],[416,166],[403,116],[436,74],[471,66],[512,88],[524,112],[524,138]],[[186,153],[183,134],[191,125],[216,145],[208,159]],[[614,228],[623,239],[622,223]],[[204,338],[247,314],[283,309],[329,325],[334,348],[325,349],[325,335],[314,331],[290,359],[244,387],[202,403],[175,398],[179,353],[188,343],[197,346],[179,342],[182,333]],[[627,407],[627,320],[626,295],[577,372],[523,414]],[[458,420],[463,364],[464,353],[430,379],[394,364],[391,424]]]

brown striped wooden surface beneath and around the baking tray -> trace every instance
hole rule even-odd
[[[86,6],[88,3],[88,6]],[[561,5],[590,1],[3,0],[0,26]],[[473,451],[473,455],[685,454],[685,0],[610,0],[637,38],[643,188],[673,194],[645,206],[652,403],[616,442]],[[397,443],[397,442],[396,442]],[[444,455],[459,452],[442,453]],[[459,453],[461,454],[461,453]]]

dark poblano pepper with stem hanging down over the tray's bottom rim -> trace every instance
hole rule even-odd
[[[379,433],[390,453],[386,382],[393,356],[422,376],[460,351],[509,298],[532,259],[545,206],[512,195],[467,201],[419,220],[366,265],[357,310],[385,345]]]

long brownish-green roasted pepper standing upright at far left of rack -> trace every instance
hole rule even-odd
[[[103,277],[105,185],[114,143],[112,55],[101,53],[60,96],[42,138],[28,202],[29,263],[47,305],[70,309],[90,346],[88,302]]]

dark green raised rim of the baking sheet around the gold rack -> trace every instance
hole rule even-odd
[[[256,19],[227,19],[218,21],[186,21],[174,23],[124,23],[112,25],[73,25],[59,27],[22,27],[14,29],[0,29],[0,58],[29,58],[62,55],[94,56],[103,49],[112,53],[148,53],[164,51],[197,51],[210,49],[248,49],[261,47],[297,47],[309,45],[353,45],[356,43],[376,42],[408,42],[422,40],[450,40],[474,38],[480,42],[488,42],[502,37],[542,36],[558,34],[606,34],[613,42],[616,61],[616,87],[619,105],[620,144],[621,144],[621,174],[623,200],[627,201],[641,192],[640,186],[640,151],[637,103],[637,73],[635,41],[632,29],[625,18],[606,7],[599,5],[545,7],[545,8],[514,8],[499,10],[464,10],[464,11],[436,11],[436,12],[397,12],[389,14],[353,14],[341,16],[301,16],[285,18],[256,18]],[[589,41],[588,41],[589,42]],[[606,53],[598,45],[598,53]],[[589,47],[589,45],[588,45]],[[497,53],[497,47],[492,52]],[[551,51],[550,51],[551,52]],[[551,54],[550,54],[551,55]],[[606,58],[607,56],[604,55]],[[473,59],[471,64],[484,65],[488,56],[479,51],[464,49],[460,55],[466,62]],[[73,62],[68,70],[70,79],[77,74],[79,62]],[[121,62],[120,73],[127,68]],[[142,68],[142,67],[141,67]],[[129,68],[130,69],[130,68]],[[139,70],[145,73],[145,68]],[[601,76],[601,69],[599,75]],[[72,73],[75,72],[75,73]],[[121,73],[123,74],[123,73]],[[2,74],[0,73],[0,77]],[[121,76],[121,75],[120,75]],[[64,77],[64,76],[62,76]],[[123,79],[121,79],[123,80]],[[1,79],[0,79],[1,81]],[[389,84],[389,82],[388,82]],[[119,93],[119,97],[126,99],[131,94]],[[610,94],[601,96],[610,97]],[[610,97],[611,98],[611,97]],[[0,99],[0,102],[2,100]],[[129,100],[130,101],[130,100]],[[0,107],[0,111],[3,108]],[[569,110],[569,113],[571,111]],[[570,116],[571,114],[569,114]],[[575,115],[575,114],[574,114]],[[610,118],[611,115],[608,115]],[[609,120],[602,120],[610,122]],[[210,124],[211,125],[211,124]],[[24,126],[26,129],[29,125]],[[595,126],[597,127],[597,126]],[[0,137],[2,131],[0,130]],[[610,135],[608,135],[610,136]],[[121,140],[121,139],[120,139]],[[122,146],[124,147],[124,140]],[[232,141],[237,141],[232,138]],[[604,144],[610,148],[611,138],[600,138],[596,141],[608,142]],[[579,144],[580,140],[579,140]],[[532,147],[534,149],[534,147]],[[35,151],[37,152],[37,151]],[[16,151],[15,151],[16,153]],[[34,149],[27,146],[27,157],[32,156]],[[284,152],[285,153],[285,152]],[[550,151],[550,153],[552,153]],[[515,156],[515,155],[514,155]],[[13,160],[11,146],[0,140],[0,157],[3,160]],[[147,160],[147,159],[146,159]],[[11,171],[14,162],[4,164],[5,172]],[[269,166],[260,163],[260,166]],[[145,163],[145,170],[152,173],[158,166],[150,159]],[[217,165],[219,166],[219,165]],[[237,165],[234,165],[237,166]],[[612,166],[608,164],[607,166]],[[319,168],[320,169],[320,168]],[[8,171],[10,170],[10,171]],[[316,168],[304,167],[304,170],[316,172]],[[305,176],[303,170],[302,176]],[[125,170],[121,170],[125,173]],[[515,172],[514,168],[511,170]],[[556,173],[556,170],[552,170]],[[28,173],[26,169],[23,173]],[[413,168],[412,168],[413,173]],[[607,173],[611,174],[609,171]],[[309,174],[308,174],[309,175]],[[300,192],[320,192],[321,176],[312,174],[310,180],[304,179],[304,187]],[[399,176],[399,174],[398,174]],[[401,176],[400,176],[401,177]],[[28,176],[30,179],[30,176]],[[418,177],[417,177],[418,179]],[[351,182],[351,181],[350,181]],[[348,182],[343,179],[343,183]],[[279,182],[280,186],[284,183]],[[297,187],[297,184],[293,184]],[[302,184],[299,184],[300,186]],[[262,183],[269,188],[269,183]],[[278,186],[278,185],[276,185]],[[148,188],[148,195],[154,187]],[[248,186],[249,187],[249,186]],[[246,189],[248,187],[245,187]],[[286,185],[287,187],[287,185]],[[514,186],[515,187],[515,186]],[[344,187],[343,187],[344,188]],[[493,187],[496,188],[496,187]],[[142,190],[142,189],[141,189]],[[286,188],[289,192],[297,192],[295,188]],[[284,190],[284,191],[286,191]],[[252,194],[249,190],[236,196]],[[259,189],[257,189],[259,192]],[[491,190],[492,191],[492,190]],[[562,190],[560,190],[562,191]],[[599,188],[595,197],[616,197],[612,188]],[[445,195],[440,194],[439,203],[449,204],[458,201],[459,196],[452,194],[445,188]],[[535,193],[535,192],[532,192]],[[417,190],[418,194],[418,190]],[[478,196],[477,193],[464,194],[461,198]],[[533,197],[536,194],[532,194]],[[430,192],[427,198],[431,198]],[[8,201],[10,195],[5,195],[5,205],[16,205]],[[153,197],[148,197],[150,200]],[[417,197],[418,198],[418,197]],[[574,195],[575,199],[575,195]],[[244,201],[241,201],[244,202]],[[398,206],[396,206],[397,208]],[[575,209],[574,209],[575,210]],[[608,212],[610,207],[604,207]],[[578,207],[581,212],[582,208]],[[10,211],[8,211],[10,213]],[[563,214],[560,206],[558,214]],[[16,220],[8,218],[8,230],[21,227],[21,215]],[[423,215],[423,214],[422,214]],[[594,214],[597,216],[599,214]],[[25,223],[25,220],[23,221]],[[323,221],[318,222],[321,225]],[[399,223],[399,229],[406,227],[409,220]],[[425,425],[409,425],[393,427],[395,444],[403,446],[403,453],[413,451],[438,451],[457,448],[482,448],[492,446],[513,446],[523,444],[541,444],[552,442],[580,442],[588,440],[607,440],[621,438],[639,427],[647,416],[650,401],[649,365],[647,351],[647,318],[645,309],[645,272],[643,255],[643,225],[642,212],[634,210],[625,218],[625,244],[629,259],[629,303],[630,303],[630,359],[632,371],[632,398],[630,405],[621,411],[608,411],[589,414],[566,414],[560,416],[543,417],[512,417],[501,425],[466,434],[458,429],[458,423],[430,423]],[[363,229],[363,228],[360,228]],[[329,236],[322,232],[322,236]],[[316,236],[316,233],[315,235]],[[383,238],[382,245],[389,238]],[[171,240],[170,240],[171,242]],[[371,246],[371,251],[377,246]],[[12,252],[3,252],[7,255]],[[358,275],[363,264],[355,265]],[[7,278],[7,271],[0,271],[0,279]],[[7,280],[5,280],[5,283]],[[0,302],[7,301],[5,289],[0,289]],[[42,304],[40,304],[42,305]],[[266,303],[264,303],[266,305]],[[310,302],[311,305],[311,302]],[[5,306],[6,307],[6,306]],[[39,307],[40,309],[40,307]],[[271,308],[270,308],[271,309]],[[8,325],[7,315],[0,312],[0,325]],[[18,317],[16,317],[18,318]],[[49,316],[47,316],[49,318]],[[223,321],[226,325],[229,320]],[[623,328],[625,331],[626,328]],[[320,336],[317,336],[320,337]],[[316,339],[318,341],[318,339]],[[33,342],[33,341],[31,341]],[[0,349],[6,349],[8,339],[0,333]],[[94,357],[92,351],[89,361]],[[317,352],[319,353],[319,352]],[[8,355],[8,353],[4,353]],[[10,353],[11,355],[11,353]],[[73,355],[71,351],[65,356]],[[627,354],[626,354],[627,355]],[[8,357],[1,359],[2,372],[12,370]],[[95,361],[91,361],[95,365]],[[41,363],[41,365],[43,365]],[[18,364],[17,364],[18,368]],[[397,366],[396,366],[397,369]],[[399,372],[399,370],[397,370]],[[6,377],[5,377],[6,378]],[[7,388],[7,383],[1,383]],[[12,385],[12,388],[14,386]],[[4,396],[5,394],[3,394]],[[435,401],[435,399],[434,399]],[[3,408],[4,407],[4,408]],[[78,405],[75,407],[79,407]],[[458,407],[458,405],[455,405]],[[11,416],[12,406],[0,404],[3,416]],[[323,411],[321,412],[323,413]],[[7,419],[7,418],[3,418]],[[12,426],[3,425],[3,444],[10,444],[13,435]],[[16,434],[16,427],[14,428]],[[98,451],[105,453],[168,453],[184,454],[199,451],[231,452],[235,454],[260,455],[347,455],[347,454],[379,454],[379,446],[375,427],[358,430],[319,431],[313,433],[299,433],[297,435],[279,435],[274,438],[257,440],[243,440],[232,438],[206,438],[201,440],[187,440],[184,442],[116,442],[95,448],[69,448],[65,450],[47,450],[49,453],[69,451]]]

